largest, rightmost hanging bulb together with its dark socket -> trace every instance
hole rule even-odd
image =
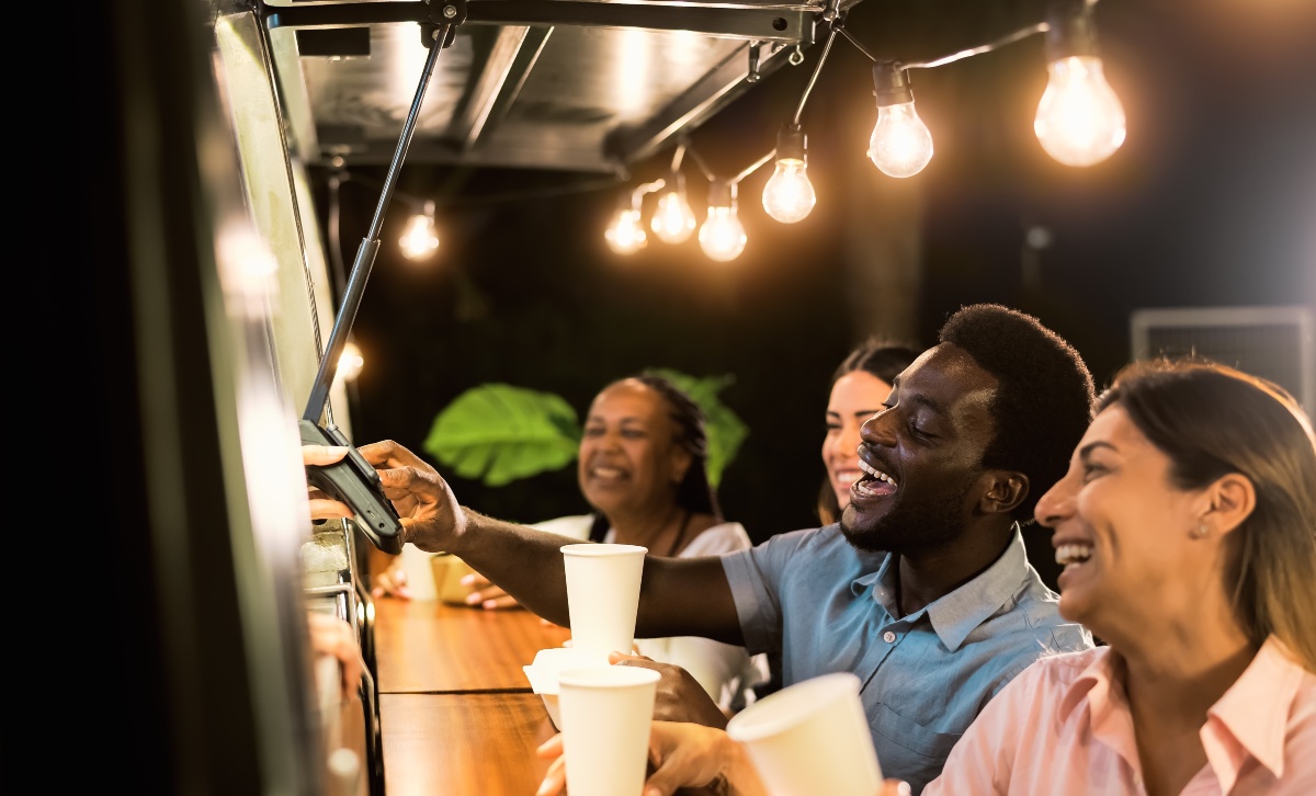
[[[1087,8],[1053,12],[1046,30],[1050,80],[1033,132],[1046,154],[1066,166],[1092,166],[1124,143],[1124,107],[1105,82]]]

